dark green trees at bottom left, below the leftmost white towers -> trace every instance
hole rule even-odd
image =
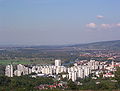
[[[53,84],[53,78],[29,76],[5,77],[0,76],[0,91],[37,91],[36,86],[41,84]]]

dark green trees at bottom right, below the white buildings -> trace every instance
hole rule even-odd
[[[68,87],[71,90],[115,90],[119,89],[118,84],[111,82],[108,79],[104,79],[99,81],[100,83],[96,83],[95,80],[93,79],[84,79],[82,85],[76,85],[76,83],[69,81],[68,82]]]

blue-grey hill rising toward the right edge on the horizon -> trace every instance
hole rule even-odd
[[[102,41],[102,42],[94,42],[94,43],[87,43],[87,44],[76,44],[76,45],[72,45],[70,47],[86,48],[86,49],[120,50],[120,40]]]

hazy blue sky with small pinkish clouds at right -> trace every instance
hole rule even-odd
[[[0,44],[120,40],[120,0],[0,0]]]

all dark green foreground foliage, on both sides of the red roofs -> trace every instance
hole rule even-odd
[[[116,80],[117,82],[113,82],[112,80]],[[115,78],[99,78],[97,80],[93,80],[91,78],[79,79],[78,80],[82,85],[76,85],[75,82],[71,80],[67,81],[68,88],[66,90],[120,90],[120,68],[117,68],[115,72]],[[96,84],[99,82],[99,84]],[[29,76],[21,76],[21,77],[5,77],[0,76],[0,91],[39,91],[35,89],[35,86],[39,86],[41,84],[53,84],[53,78],[47,77],[37,77],[31,78]],[[61,89],[49,89],[42,91],[61,91]]]

